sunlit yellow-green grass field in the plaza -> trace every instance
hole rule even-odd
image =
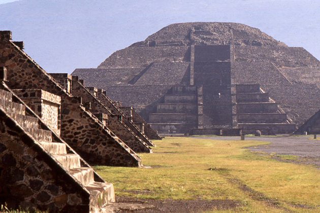
[[[116,196],[239,201],[220,210],[230,212],[320,212],[320,171],[244,149],[266,143],[190,137],[154,143],[153,154],[140,155],[152,168],[95,166]]]

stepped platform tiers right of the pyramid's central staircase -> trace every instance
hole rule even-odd
[[[238,127],[244,133],[260,130],[263,134],[292,133],[296,125],[260,85],[237,85]]]

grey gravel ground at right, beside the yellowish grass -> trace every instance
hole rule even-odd
[[[240,140],[240,136],[213,136],[205,137],[216,140]],[[320,139],[320,135],[318,135]],[[320,140],[307,136],[274,136],[274,137],[246,137],[245,140],[268,141],[271,144],[250,147],[255,152],[275,153],[278,155],[298,156],[297,160],[286,160],[294,163],[313,164],[320,168]],[[277,157],[275,157],[277,158]],[[278,158],[281,160],[281,158]]]

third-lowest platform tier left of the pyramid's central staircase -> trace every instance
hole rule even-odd
[[[192,103],[158,103],[157,113],[197,113],[197,104]]]

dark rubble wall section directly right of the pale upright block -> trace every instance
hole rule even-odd
[[[107,127],[84,108],[81,110],[79,113],[76,98],[69,103],[68,109],[62,110],[65,122],[61,126],[61,135],[86,161],[113,166],[140,165],[140,159],[137,160],[135,154],[123,151],[126,146],[121,145],[121,140],[115,141],[113,133],[108,132]]]

